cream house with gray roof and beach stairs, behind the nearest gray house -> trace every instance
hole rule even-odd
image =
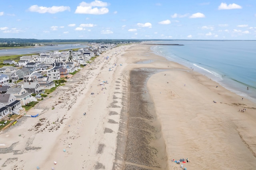
[[[26,105],[32,101],[37,101],[36,98],[34,98],[31,93],[28,93],[24,88],[22,87],[14,87],[9,88],[6,94],[12,94],[14,97],[16,97],[16,100],[20,101],[21,105]]]

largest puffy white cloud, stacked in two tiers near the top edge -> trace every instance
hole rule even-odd
[[[102,8],[92,8],[94,6],[102,7]],[[100,0],[95,0],[91,3],[86,3],[86,2],[81,2],[79,6],[76,7],[76,14],[95,14],[95,15],[100,15],[100,14],[107,14],[108,13],[108,8],[105,6],[108,6],[107,2],[102,2]]]

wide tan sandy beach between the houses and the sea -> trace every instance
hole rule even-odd
[[[0,133],[0,169],[252,170],[255,111],[150,45],[123,45],[27,112],[39,117]]]

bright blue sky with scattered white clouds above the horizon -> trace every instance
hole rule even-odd
[[[0,38],[256,40],[256,0],[0,2]]]

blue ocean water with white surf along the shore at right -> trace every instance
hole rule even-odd
[[[152,50],[256,103],[256,41],[173,40]],[[247,90],[247,87],[249,90]]]

